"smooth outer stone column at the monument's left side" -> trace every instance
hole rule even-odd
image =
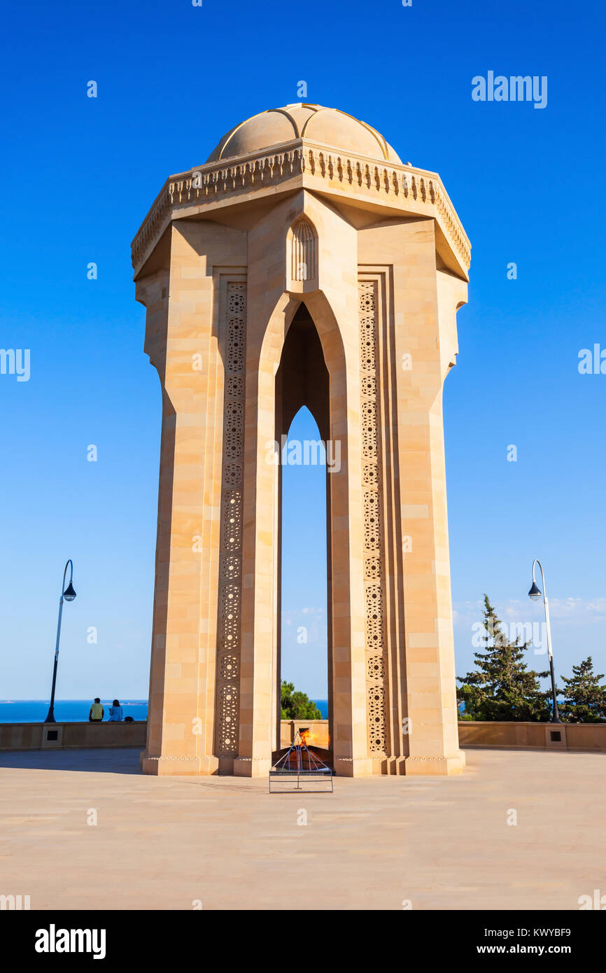
[[[146,774],[213,774],[222,375],[213,282],[173,227],[170,275],[146,281],[146,351],[162,386],[160,500]],[[154,302],[156,299],[156,303]],[[213,592],[214,589],[214,592]],[[214,605],[214,607],[213,607]]]

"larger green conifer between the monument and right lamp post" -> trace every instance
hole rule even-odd
[[[494,608],[484,595],[483,646],[474,654],[478,671],[457,676],[462,683],[457,698],[465,703],[464,719],[528,720],[551,719],[549,692],[542,692],[539,679],[550,673],[528,669],[523,655],[530,642],[510,642],[501,629]]]

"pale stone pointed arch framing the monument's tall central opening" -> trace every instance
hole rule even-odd
[[[317,333],[326,367],[327,438],[339,442],[340,448],[339,469],[334,469],[330,476],[327,473],[329,707],[334,760],[342,769],[340,773],[350,774],[354,753],[357,757],[366,741],[365,719],[360,720],[358,712],[359,699],[364,694],[364,668],[358,660],[363,650],[361,592],[355,583],[359,574],[361,587],[357,544],[361,530],[357,514],[359,497],[356,495],[353,503],[350,500],[352,490],[359,490],[359,473],[356,476],[357,463],[354,461],[352,473],[348,462],[349,413],[355,410],[357,414],[358,409],[348,403],[345,346],[331,303],[318,290],[305,294],[303,302]],[[268,766],[279,731],[276,696],[280,467],[271,460],[268,445],[276,444],[279,428],[276,376],[286,337],[301,305],[298,295],[282,294],[269,315],[258,360],[249,357],[247,363],[244,463],[245,482],[249,486],[244,494],[244,523],[248,528],[244,534],[242,564],[240,725],[248,729],[246,739],[240,738],[235,774],[250,773],[247,767],[251,761],[253,767],[257,762],[261,767],[263,761]],[[259,502],[261,497],[263,502]],[[349,607],[352,604],[357,606],[354,611]]]

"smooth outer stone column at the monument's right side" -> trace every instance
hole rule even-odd
[[[403,559],[407,774],[459,773],[465,763],[456,721],[442,421],[446,336],[434,233],[433,221],[402,226],[394,267],[402,536],[410,538]]]

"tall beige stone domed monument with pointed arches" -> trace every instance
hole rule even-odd
[[[170,176],[132,244],[162,395],[145,773],[267,775],[279,748],[280,442],[327,472],[338,775],[453,774],[442,392],[469,240],[438,175],[297,103]]]

